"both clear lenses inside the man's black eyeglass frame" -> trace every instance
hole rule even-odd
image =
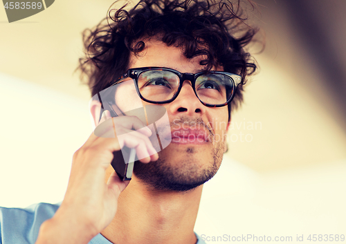
[[[140,94],[152,102],[172,99],[179,90],[179,76],[171,71],[150,70],[138,76]],[[224,74],[199,75],[195,82],[197,97],[207,104],[224,104],[233,92],[233,82]]]

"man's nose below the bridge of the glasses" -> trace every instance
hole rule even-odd
[[[185,80],[178,97],[170,103],[169,110],[170,113],[174,115],[196,116],[206,113],[206,106],[204,106],[201,101],[199,101],[196,94],[194,94],[191,82]]]

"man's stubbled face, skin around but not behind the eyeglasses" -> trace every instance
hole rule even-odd
[[[187,59],[181,50],[161,41],[145,41],[138,56],[131,55],[129,68],[165,67],[181,73],[198,73],[202,57]],[[222,68],[215,68],[222,71]],[[141,104],[129,100],[126,86],[119,86],[116,104],[120,111],[136,109]],[[149,104],[143,102],[144,104]],[[172,131],[171,144],[158,153],[159,159],[144,164],[136,162],[134,179],[154,189],[186,191],[203,184],[215,175],[221,165],[228,124],[227,106],[211,108],[201,104],[190,81],[185,81],[173,102],[162,104],[167,109]]]

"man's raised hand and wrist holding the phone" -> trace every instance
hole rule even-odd
[[[44,241],[47,238],[50,241],[56,240],[52,243],[88,243],[111,223],[116,214],[118,197],[129,184],[128,181],[120,180],[115,171],[107,184],[104,182],[104,174],[113,159],[113,151],[119,151],[126,145],[136,149],[141,162],[158,159],[149,140],[152,132],[138,118],[110,118],[109,111],[104,115],[97,133],[101,136],[92,133],[74,153],[69,185],[62,205],[55,216],[42,225],[37,243],[41,240],[47,243]],[[113,125],[116,126],[116,133],[126,133],[126,136],[114,136]],[[51,234],[55,237],[49,237]]]

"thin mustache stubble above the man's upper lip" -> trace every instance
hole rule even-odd
[[[185,127],[189,127],[192,129],[203,129],[209,132],[210,135],[215,135],[214,130],[210,126],[204,122],[201,118],[190,118],[182,116],[180,118],[176,118],[173,122],[170,122],[171,129],[181,129]]]

